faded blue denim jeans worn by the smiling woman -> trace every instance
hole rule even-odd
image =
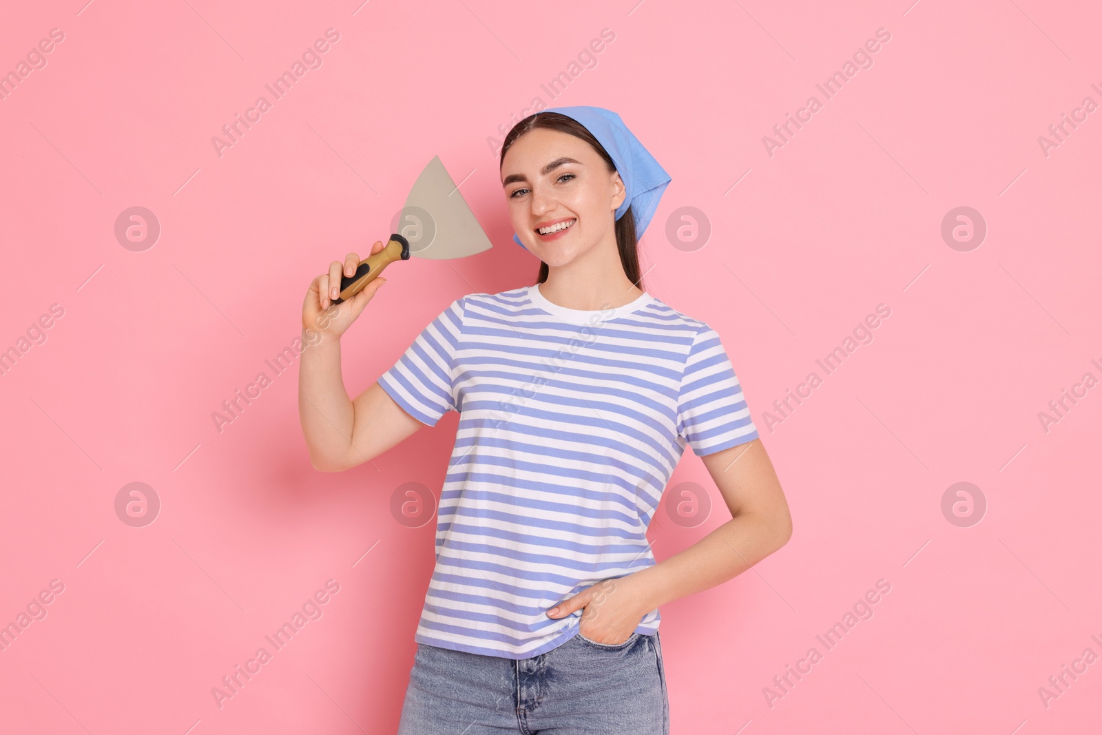
[[[418,644],[398,735],[669,735],[658,633],[527,659]]]

